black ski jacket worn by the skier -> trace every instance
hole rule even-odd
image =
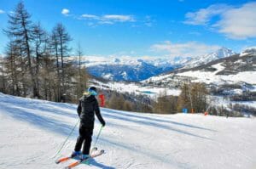
[[[95,114],[102,125],[105,125],[99,104],[93,95],[84,94],[84,96],[79,99],[78,114],[80,117],[80,124],[84,127],[94,127]]]

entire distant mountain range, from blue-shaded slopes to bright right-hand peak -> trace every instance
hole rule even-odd
[[[208,62],[228,57],[235,54],[228,48],[220,48],[218,51],[204,56],[176,57],[176,58],[153,58],[143,57],[96,57],[88,56],[83,58],[82,64],[87,67],[91,75],[102,77],[113,81],[139,82],[151,76],[157,76],[177,68],[190,68],[197,65],[207,64]]]

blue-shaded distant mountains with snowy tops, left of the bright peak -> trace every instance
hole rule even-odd
[[[133,82],[173,70],[177,66],[172,65],[168,59],[135,59],[132,57],[102,59],[101,61],[88,58],[85,65],[93,76],[113,81]]]

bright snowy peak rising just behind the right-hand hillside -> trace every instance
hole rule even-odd
[[[229,48],[219,48],[217,51],[211,53],[211,54],[206,54],[203,56],[195,57],[190,59],[188,62],[183,63],[183,68],[193,68],[198,65],[206,65],[207,63],[216,60],[216,59],[221,59],[221,58],[226,58],[231,55],[236,54],[234,51],[232,51]]]

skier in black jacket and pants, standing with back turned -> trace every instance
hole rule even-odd
[[[96,87],[89,87],[82,98],[79,99],[78,115],[80,118],[79,137],[75,145],[72,157],[81,155],[81,160],[90,157],[91,136],[93,134],[95,115],[104,127],[106,125],[102,118],[99,104],[95,98],[97,95]],[[81,148],[83,145],[83,150]]]

